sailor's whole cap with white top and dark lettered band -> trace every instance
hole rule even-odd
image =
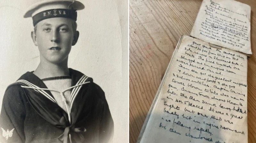
[[[76,10],[82,9],[84,4],[76,0],[39,0],[28,8],[24,18],[32,17],[34,26],[47,18],[64,17],[76,21]]]

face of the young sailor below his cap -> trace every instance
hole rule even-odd
[[[38,46],[41,61],[57,64],[68,60],[74,42],[72,19],[48,18],[40,21],[36,26],[34,43]]]

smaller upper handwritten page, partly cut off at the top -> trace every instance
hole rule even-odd
[[[251,50],[251,7],[234,0],[204,0],[190,33],[214,45],[245,54]]]

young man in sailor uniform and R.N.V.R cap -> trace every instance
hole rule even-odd
[[[31,37],[40,52],[35,71],[5,91],[0,142],[107,143],[113,120],[103,90],[92,78],[68,68],[68,54],[78,40],[74,0],[43,0],[24,17],[32,17]]]

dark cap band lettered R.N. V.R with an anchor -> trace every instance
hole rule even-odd
[[[76,10],[71,9],[52,9],[37,13],[32,17],[33,25],[35,26],[38,22],[48,18],[71,18],[76,21],[77,13]]]

